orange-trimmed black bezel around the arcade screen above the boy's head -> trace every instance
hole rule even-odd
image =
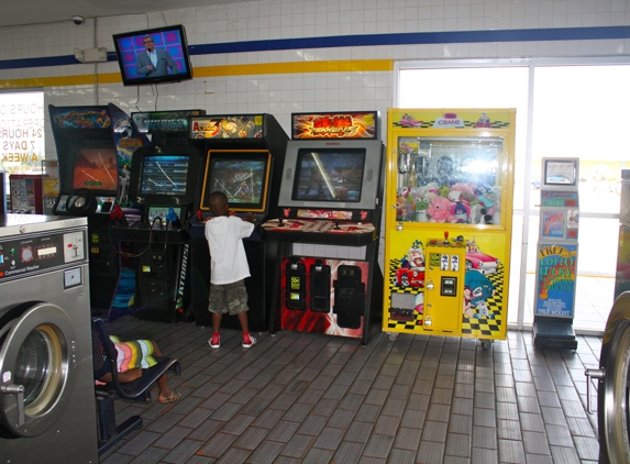
[[[265,178],[262,188],[262,197],[259,203],[239,203],[229,201],[230,210],[235,212],[265,212],[267,211],[269,181],[272,175],[272,152],[268,150],[209,150],[206,157],[206,169],[203,170],[203,183],[201,186],[201,198],[199,200],[199,209],[202,211],[210,211],[208,205],[208,197],[211,191],[208,191],[208,183],[211,178],[211,167],[213,159],[264,159],[265,161]]]

